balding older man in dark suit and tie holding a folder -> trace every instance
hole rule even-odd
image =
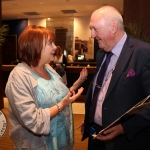
[[[128,36],[121,14],[111,6],[95,10],[89,27],[100,49],[86,95],[82,140],[89,137],[88,150],[150,150],[150,106],[93,139],[150,95],[150,44]]]

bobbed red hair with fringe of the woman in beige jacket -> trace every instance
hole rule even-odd
[[[41,58],[41,51],[47,42],[53,42],[55,35],[49,29],[29,25],[21,33],[18,39],[18,54],[22,62],[30,67],[36,67]]]

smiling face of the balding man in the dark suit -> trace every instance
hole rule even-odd
[[[104,19],[91,18],[89,27],[91,29],[91,37],[95,38],[99,44],[99,48],[108,52],[112,49],[113,35],[111,25],[105,23]]]

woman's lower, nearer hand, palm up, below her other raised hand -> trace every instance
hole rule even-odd
[[[76,99],[78,99],[80,97],[80,95],[82,94],[84,88],[81,87],[78,89],[78,92],[75,93],[74,91],[70,91],[63,99],[60,103],[62,103],[63,107],[69,105],[70,103],[74,102]]]

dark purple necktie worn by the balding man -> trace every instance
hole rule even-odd
[[[89,112],[89,121],[90,121],[90,123],[92,123],[93,120],[94,120],[98,95],[99,95],[99,92],[100,92],[102,84],[103,84],[103,79],[104,79],[105,72],[107,70],[108,64],[110,62],[110,58],[113,55],[112,52],[107,52],[106,54],[107,54],[106,59],[105,59],[103,65],[101,66],[101,69],[100,69],[99,74],[97,76],[96,85],[98,85],[98,86],[95,86],[93,99],[91,101],[90,112]]]

